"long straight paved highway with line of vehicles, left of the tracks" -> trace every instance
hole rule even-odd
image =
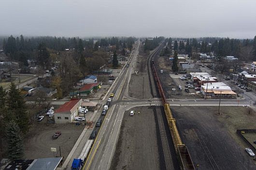
[[[126,65],[122,69],[118,81],[111,89],[111,92],[115,92],[113,103],[101,125],[94,147],[85,162],[84,170],[108,170],[110,168],[124,112],[127,109],[122,103],[114,103],[114,101],[122,100],[124,93],[128,92],[128,82],[130,75],[134,73],[133,68],[139,54],[139,46],[140,41],[137,41],[135,50],[128,60],[129,66]]]

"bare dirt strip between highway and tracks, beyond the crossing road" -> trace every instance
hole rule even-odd
[[[140,55],[138,57],[135,70],[139,71],[138,75],[132,74],[129,83],[129,96],[138,99],[150,99],[152,98],[150,91],[150,83],[147,69],[147,55],[143,52],[143,47],[140,46]],[[143,90],[143,78],[144,78],[144,90]],[[143,93],[144,94],[143,94]]]

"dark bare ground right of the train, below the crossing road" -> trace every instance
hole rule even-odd
[[[247,107],[172,106],[174,118],[183,142],[200,170],[256,170],[256,164],[245,152],[246,144],[236,134],[237,129],[255,129],[256,113]],[[210,162],[211,160],[211,162]]]

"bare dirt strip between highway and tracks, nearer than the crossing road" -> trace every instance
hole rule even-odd
[[[110,170],[161,170],[153,107],[132,110],[140,114],[125,112]]]

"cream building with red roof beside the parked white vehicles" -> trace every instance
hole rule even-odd
[[[71,123],[76,116],[79,116],[78,108],[82,104],[82,99],[71,99],[55,110],[55,123]]]

